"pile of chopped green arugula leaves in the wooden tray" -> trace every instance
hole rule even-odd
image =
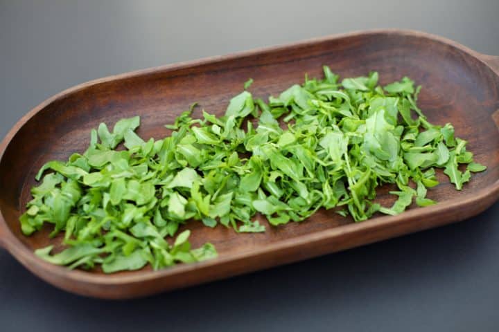
[[[21,228],[28,235],[53,223],[51,236],[64,232],[68,248],[37,255],[71,268],[101,264],[105,273],[202,261],[217,255],[210,243],[192,250],[189,231],[173,245],[165,238],[189,220],[264,232],[256,212],[271,225],[302,221],[319,208],[355,221],[399,214],[413,201],[435,203],[426,198],[439,183],[435,168],[457,190],[486,168],[473,163],[451,124],[426,120],[417,107],[420,87],[408,77],[384,87],[376,72],[340,82],[324,66],[324,79],[306,78],[268,103],[247,91],[251,83],[225,116],[202,111],[193,119],[193,105],[166,126],[170,136],[147,142],[134,132],[138,117],[112,132],[101,123],[84,154],[46,163],[37,180],[53,172],[32,189]],[[121,142],[125,149],[116,149]],[[388,207],[374,201],[385,183],[398,187]]]

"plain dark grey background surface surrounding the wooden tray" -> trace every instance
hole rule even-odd
[[[499,55],[499,1],[0,1],[0,137],[87,80],[366,28]],[[36,139],[36,138],[34,138]],[[478,217],[146,299],[59,291],[0,250],[1,331],[499,331],[499,203]]]

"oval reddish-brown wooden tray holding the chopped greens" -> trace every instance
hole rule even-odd
[[[469,149],[487,171],[475,174],[462,192],[439,174],[441,185],[428,191],[437,205],[362,223],[324,210],[302,223],[268,227],[262,234],[189,223],[193,245],[211,241],[220,254],[198,264],[104,275],[53,266],[33,255],[36,248],[61,241],[49,240],[49,228],[31,237],[21,234],[18,218],[30,199],[35,173],[47,160],[65,160],[72,151],[84,151],[90,130],[99,122],[112,124],[139,115],[139,134],[161,138],[167,133],[163,125],[172,123],[192,102],[220,115],[249,77],[254,79],[254,95],[267,98],[302,82],[305,73],[321,75],[322,64],[343,77],[376,70],[381,84],[410,76],[423,85],[419,105],[429,120],[452,122],[457,136],[469,140]],[[42,102],[1,142],[0,244],[47,282],[103,298],[149,295],[324,255],[460,221],[489,207],[499,194],[498,121],[499,57],[412,31],[349,33],[106,77]],[[381,188],[380,199],[389,203],[384,192]]]

